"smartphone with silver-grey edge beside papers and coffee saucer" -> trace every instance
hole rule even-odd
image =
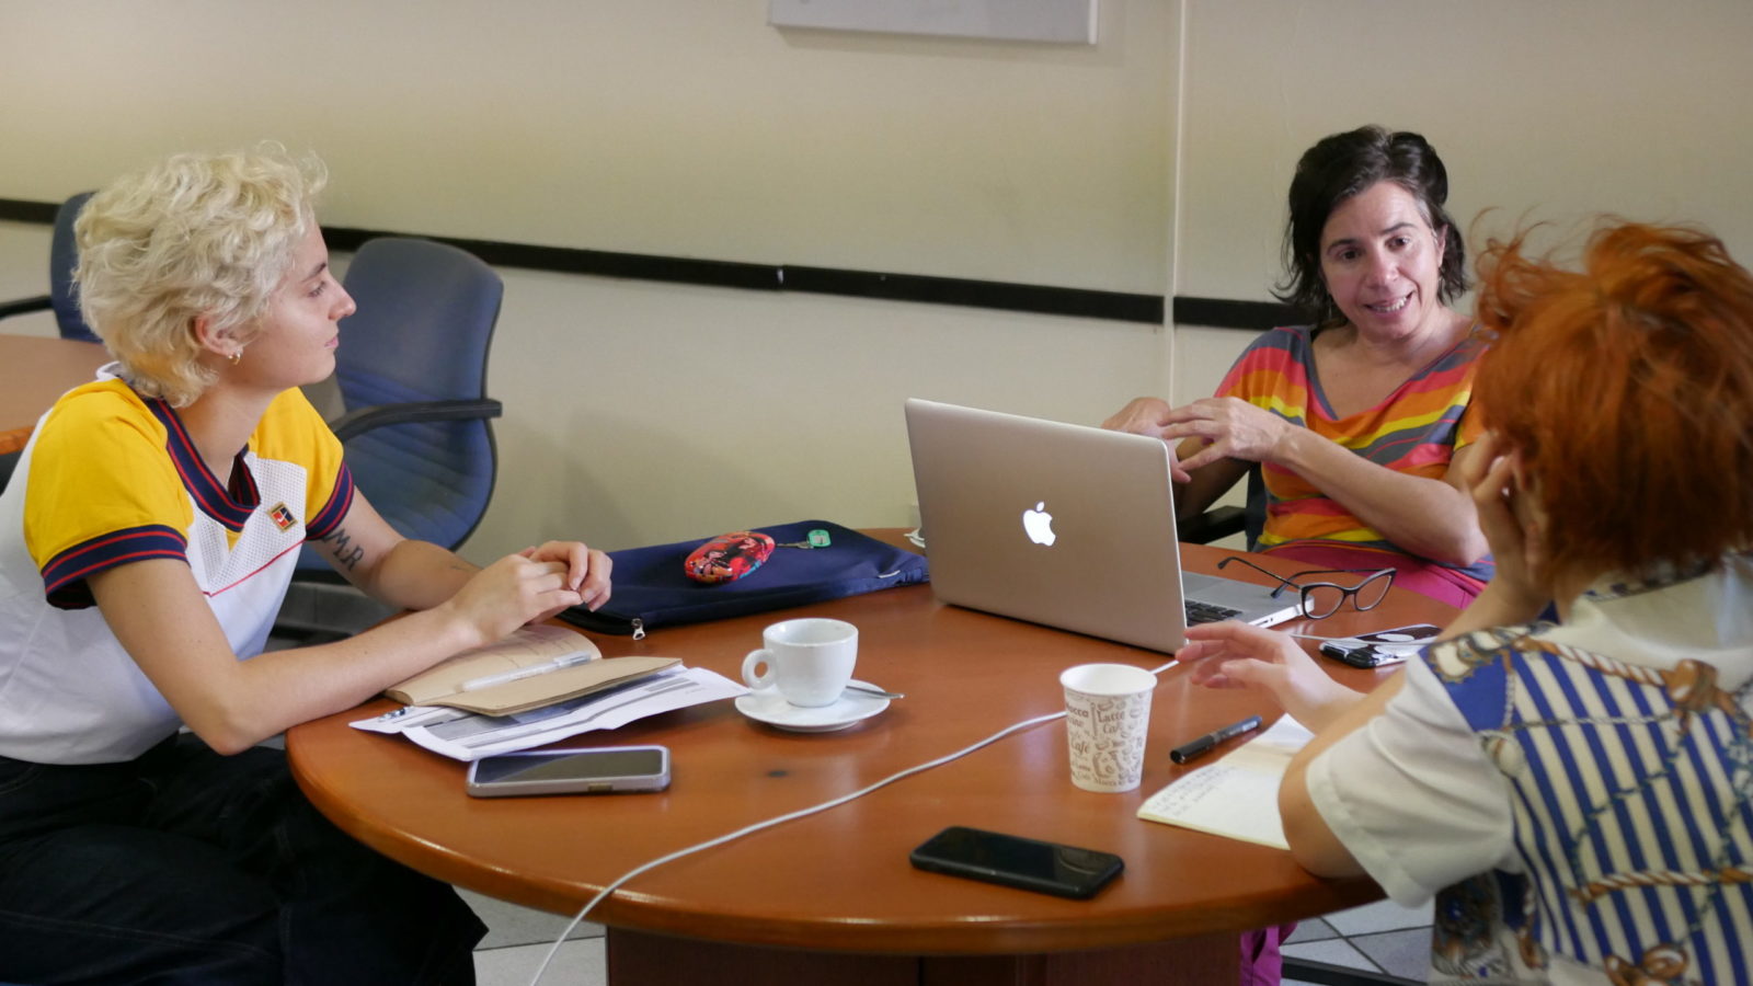
[[[663,746],[529,749],[468,765],[468,793],[477,798],[612,795],[668,786],[670,747]]]

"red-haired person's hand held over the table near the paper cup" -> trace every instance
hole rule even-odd
[[[1269,691],[1290,718],[1317,733],[1364,698],[1327,677],[1294,639],[1234,619],[1189,626],[1187,646],[1175,656],[1192,668],[1194,684]]]

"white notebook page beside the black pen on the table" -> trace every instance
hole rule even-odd
[[[1138,818],[1288,849],[1278,816],[1278,784],[1290,758],[1311,739],[1315,733],[1302,723],[1281,716],[1236,753],[1176,777],[1138,809]]]

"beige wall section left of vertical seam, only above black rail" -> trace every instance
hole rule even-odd
[[[1157,291],[1173,4],[1103,42],[766,0],[0,0],[0,195],[273,137],[337,225]]]

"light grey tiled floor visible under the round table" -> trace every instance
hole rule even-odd
[[[463,897],[487,925],[487,937],[475,949],[480,986],[529,986],[566,919],[473,893]],[[1430,907],[1406,909],[1381,900],[1304,921],[1285,944],[1285,954],[1423,981],[1430,954]],[[600,925],[575,930],[542,974],[542,986],[607,982]],[[1295,979],[1285,979],[1285,986],[1295,984]]]

